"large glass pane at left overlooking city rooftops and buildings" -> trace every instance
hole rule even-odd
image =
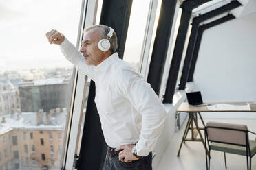
[[[61,169],[73,66],[45,33],[76,44],[81,3],[0,1],[0,169]]]

